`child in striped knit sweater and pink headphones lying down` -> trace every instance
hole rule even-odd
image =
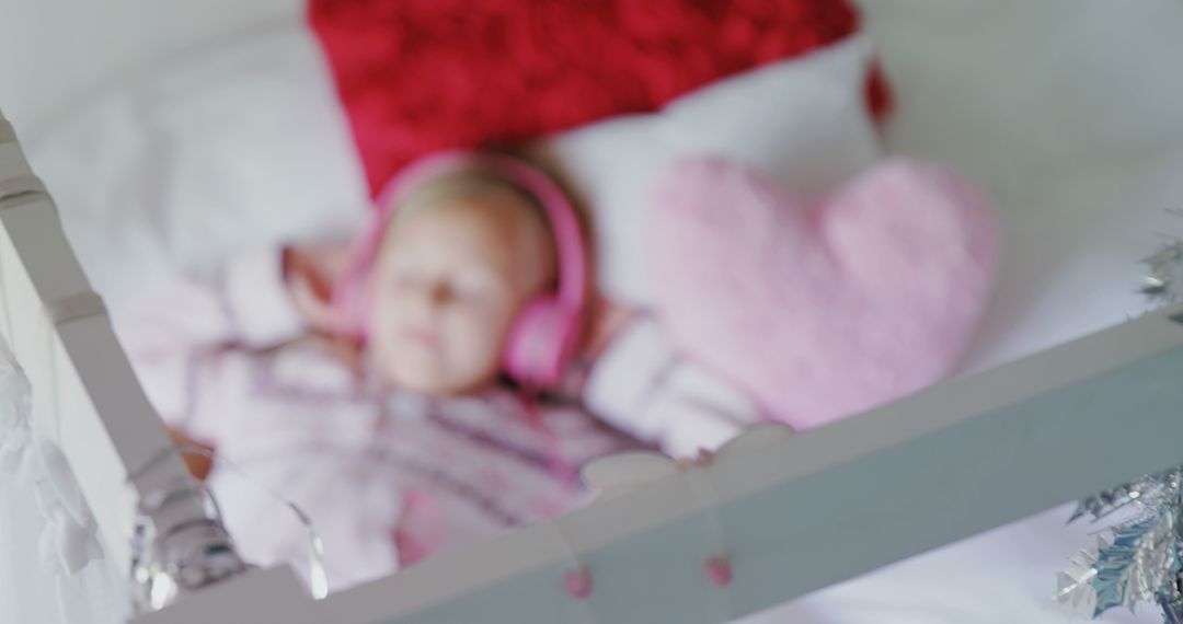
[[[300,565],[265,485],[311,516],[340,589],[570,508],[590,459],[692,455],[757,420],[592,293],[586,246],[539,169],[446,152],[383,190],[355,245],[235,258],[142,298],[119,333],[175,438],[220,457],[190,469],[243,554]]]

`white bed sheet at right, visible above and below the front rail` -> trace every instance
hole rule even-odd
[[[1183,4],[864,2],[896,85],[890,151],[952,165],[1007,235],[978,370],[1137,316],[1137,261],[1183,236]],[[939,493],[935,493],[939,495]],[[1054,573],[1094,542],[1071,506],[913,557],[745,624],[1068,622]],[[1081,618],[1077,618],[1081,620]],[[1155,609],[1103,622],[1158,623]]]

